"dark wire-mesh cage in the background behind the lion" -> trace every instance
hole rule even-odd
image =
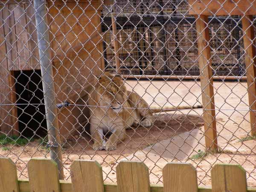
[[[116,19],[119,44],[122,44],[119,59],[123,63],[120,69],[123,74],[159,74],[173,79],[177,79],[177,76],[196,79],[194,76],[199,76],[195,17],[189,13],[188,1],[160,0],[155,3],[149,0],[145,3],[127,3],[119,0],[113,6],[103,9],[105,64],[108,70],[113,71],[116,65],[113,58],[116,54],[113,51],[115,41],[108,30],[113,23],[110,9]],[[239,41],[242,30],[241,23],[236,22],[238,20],[236,17],[211,17],[209,20],[211,53],[218,54],[218,57],[212,57],[214,76],[244,76],[244,58],[241,57],[244,50]],[[134,26],[137,27],[135,31]],[[231,38],[227,38],[229,33],[232,34]],[[138,43],[135,45],[133,42]],[[227,49],[231,49],[231,54]]]

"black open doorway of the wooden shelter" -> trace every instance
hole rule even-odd
[[[14,75],[17,104],[22,104],[17,105],[21,136],[46,136],[47,124],[41,70],[15,71]]]

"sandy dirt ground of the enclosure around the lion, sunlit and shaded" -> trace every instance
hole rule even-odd
[[[200,82],[192,81],[127,81],[152,107],[198,105]],[[247,84],[214,82],[215,111],[220,153],[208,152],[192,160],[198,150],[205,150],[202,110],[183,110],[156,114],[152,128],[127,130],[126,140],[115,151],[93,151],[87,134],[70,140],[62,152],[64,175],[70,179],[73,160],[97,160],[105,181],[116,182],[115,167],[120,160],[141,160],[149,168],[151,183],[162,182],[162,169],[168,162],[188,162],[196,167],[199,185],[211,184],[210,170],[216,163],[239,163],[247,172],[248,186],[256,186],[256,141],[241,139],[250,135]],[[88,142],[89,141],[89,142]],[[26,163],[31,157],[49,157],[49,151],[33,141],[25,147],[0,148],[0,156],[10,157],[17,165],[19,177],[27,177]]]

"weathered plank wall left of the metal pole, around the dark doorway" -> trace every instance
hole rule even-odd
[[[40,69],[37,62],[37,37],[32,10],[29,3],[6,4],[0,9],[1,104],[16,102],[15,70]],[[18,135],[17,108],[14,105],[0,108],[0,131]]]

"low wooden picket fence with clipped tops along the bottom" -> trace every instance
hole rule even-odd
[[[245,170],[239,165],[218,164],[212,168],[212,188],[198,187],[197,172],[189,163],[168,163],[163,168],[163,186],[150,185],[148,167],[142,162],[121,161],[116,183],[104,183],[96,161],[76,160],[71,181],[59,180],[57,164],[49,159],[31,159],[28,179],[18,179],[15,164],[0,158],[0,192],[256,192],[247,189]]]

